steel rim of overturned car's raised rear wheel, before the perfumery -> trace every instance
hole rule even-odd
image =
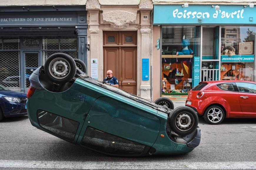
[[[49,72],[55,79],[64,79],[69,75],[70,64],[64,58],[55,58],[49,64]]]

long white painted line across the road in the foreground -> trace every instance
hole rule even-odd
[[[0,168],[48,169],[256,169],[256,161],[181,162],[181,161],[22,161],[0,160]]]

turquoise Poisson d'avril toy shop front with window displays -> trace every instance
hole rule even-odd
[[[160,27],[159,50],[154,51],[161,56],[161,96],[185,101],[200,81],[255,81],[252,4],[186,6],[154,5],[154,28]]]

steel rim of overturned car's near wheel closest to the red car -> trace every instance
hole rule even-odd
[[[181,112],[175,118],[175,126],[183,132],[192,129],[195,124],[194,116],[189,112]]]

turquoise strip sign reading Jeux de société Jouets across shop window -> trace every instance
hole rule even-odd
[[[222,55],[222,62],[254,62],[254,55]]]

